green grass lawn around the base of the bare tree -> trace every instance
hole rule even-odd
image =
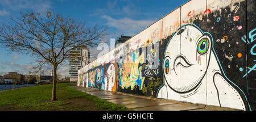
[[[0,110],[129,110],[69,86],[71,86],[69,83],[56,85],[56,101],[51,101],[52,85],[31,86],[0,92]]]

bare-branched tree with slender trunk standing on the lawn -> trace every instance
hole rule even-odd
[[[53,11],[46,15],[29,12],[9,24],[0,26],[0,44],[11,52],[31,54],[36,71],[53,66],[52,98],[56,100],[57,68],[70,58],[69,51],[78,47],[94,47],[106,35],[106,26],[85,27],[85,22],[63,17]]]

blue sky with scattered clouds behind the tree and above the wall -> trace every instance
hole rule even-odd
[[[0,0],[0,23],[9,22],[10,16],[15,18],[19,12],[35,11],[43,14],[53,10],[70,18],[86,20],[86,26],[89,27],[94,24],[108,26],[110,35],[103,40],[108,42],[110,38],[116,39],[121,34],[134,36],[185,2],[187,0]],[[9,71],[28,74],[33,57],[11,53],[3,47],[0,47],[0,51],[0,75]],[[59,73],[68,76],[68,69],[67,65],[61,66]],[[44,71],[44,75],[49,75],[49,70],[51,67]]]

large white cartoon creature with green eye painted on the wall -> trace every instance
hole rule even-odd
[[[185,24],[167,44],[157,98],[245,110],[239,88],[225,77],[217,59],[212,36]]]

